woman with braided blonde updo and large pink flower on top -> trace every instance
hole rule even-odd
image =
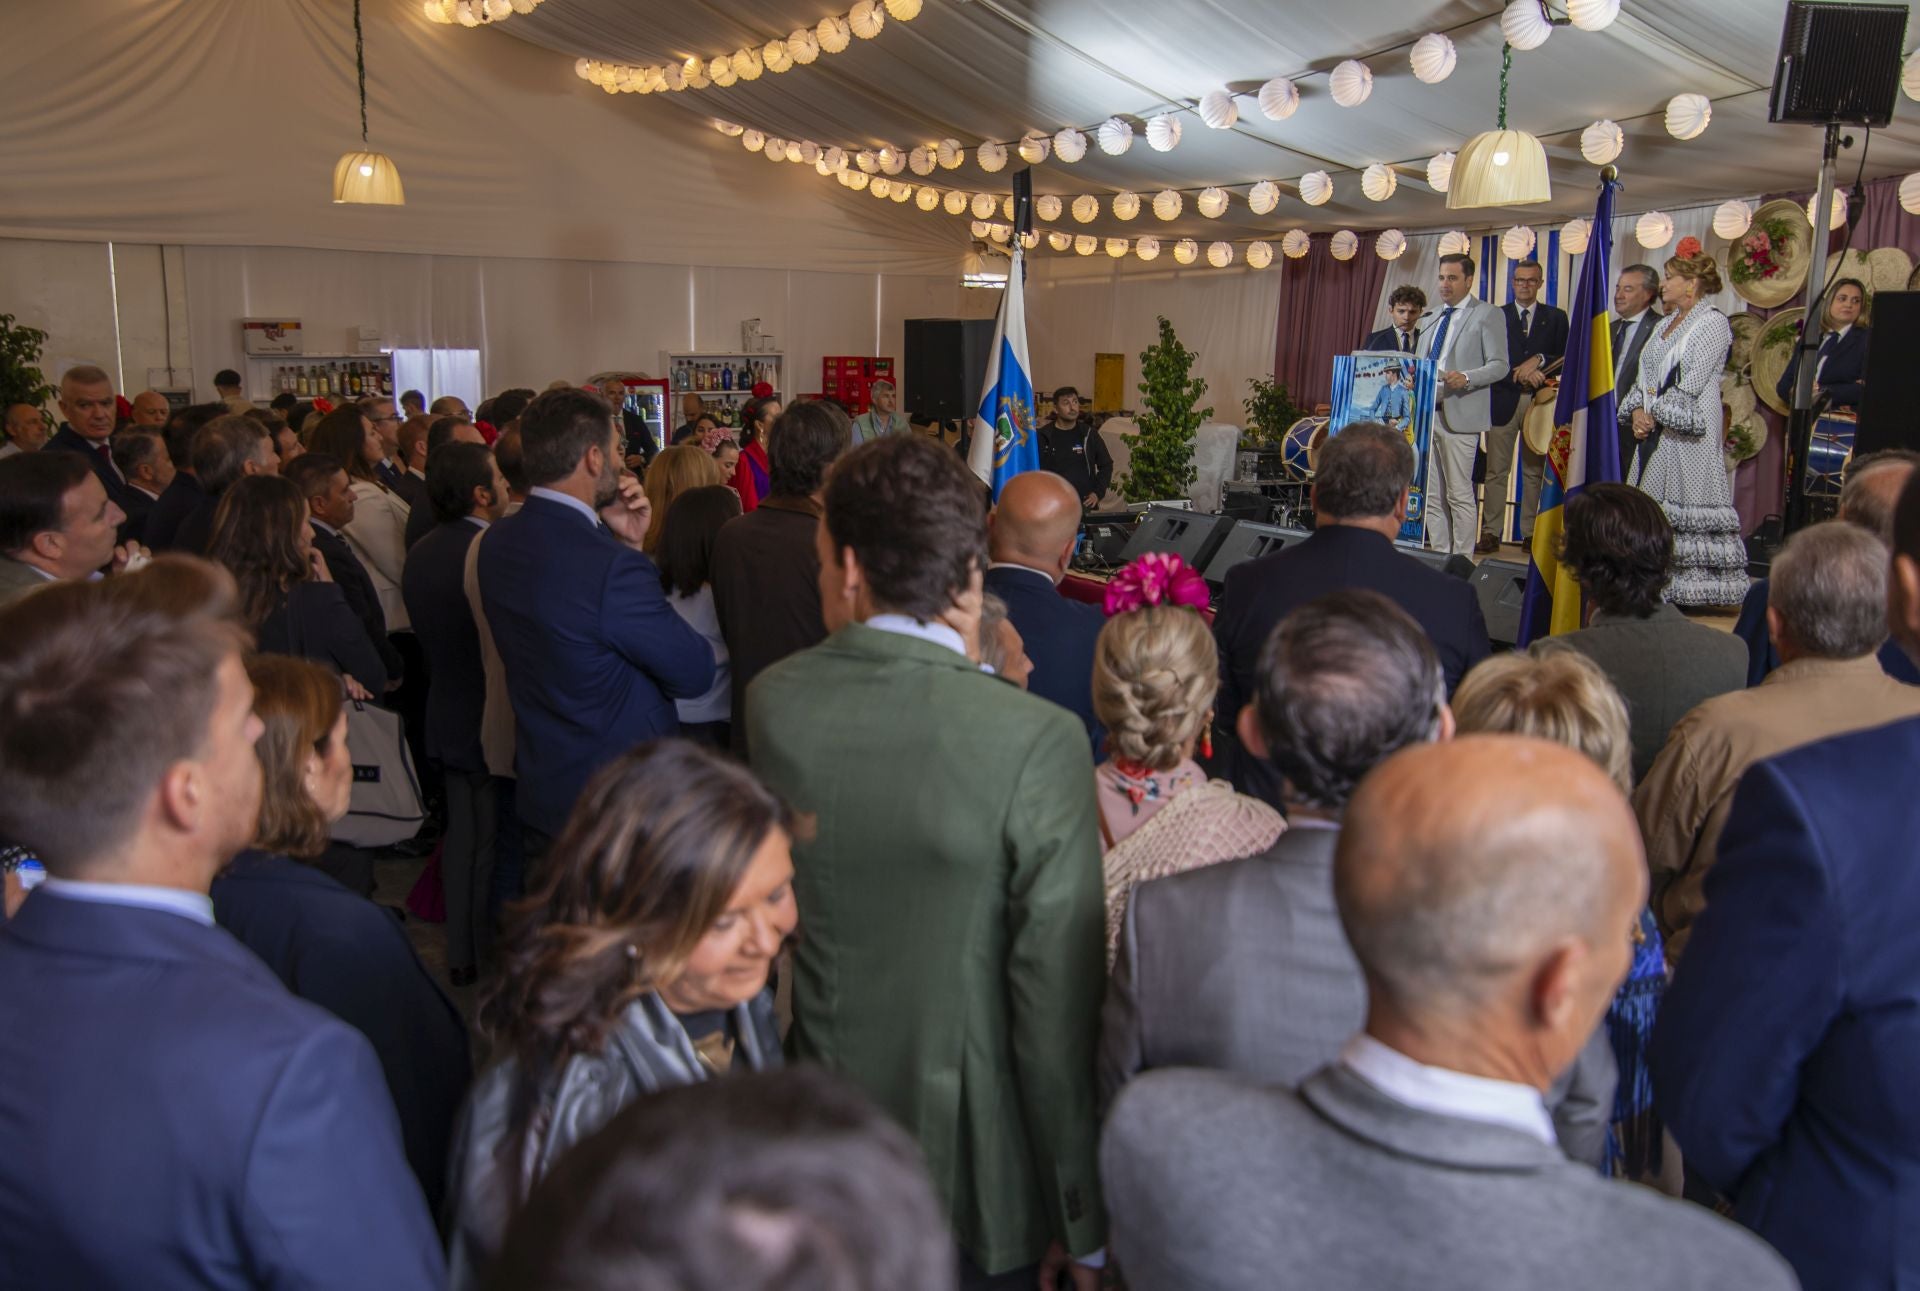
[[[1106,962],[1135,884],[1265,851],[1281,813],[1208,780],[1219,655],[1200,617],[1206,582],[1177,555],[1142,555],[1106,592],[1092,657],[1092,711],[1108,761],[1094,768],[1106,843]]]

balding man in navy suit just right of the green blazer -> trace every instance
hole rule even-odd
[[[1092,715],[1092,649],[1106,615],[1060,596],[1079,519],[1073,484],[1052,471],[1008,480],[987,521],[987,590],[1006,601],[1006,617],[1027,646],[1027,690],[1081,719],[1098,757],[1104,732]]]

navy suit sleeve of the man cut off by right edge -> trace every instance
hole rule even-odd
[[[1822,830],[1780,763],[1759,763],[1734,795],[1649,1055],[1661,1116],[1720,1191],[1738,1195],[1780,1143],[1841,989]]]

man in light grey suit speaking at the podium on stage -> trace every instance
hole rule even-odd
[[[1427,546],[1471,555],[1480,519],[1473,453],[1494,425],[1492,384],[1507,375],[1507,321],[1473,294],[1473,256],[1440,257],[1440,319],[1421,332],[1419,353],[1438,369],[1440,400],[1427,473]]]

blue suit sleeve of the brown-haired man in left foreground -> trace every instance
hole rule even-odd
[[[244,1191],[263,1287],[445,1285],[380,1064],[346,1024],[290,1055],[253,1132]]]

